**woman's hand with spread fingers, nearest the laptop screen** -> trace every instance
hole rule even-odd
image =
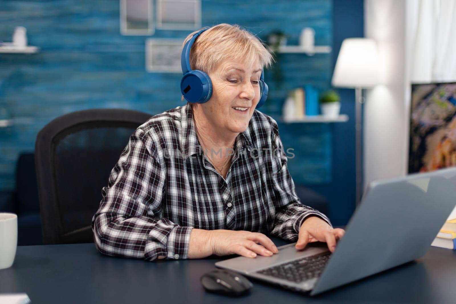
[[[329,224],[318,216],[310,216],[304,220],[299,230],[298,242],[295,247],[298,250],[304,249],[310,242],[326,242],[331,252],[336,249],[336,242],[345,234],[341,228],[331,228]]]

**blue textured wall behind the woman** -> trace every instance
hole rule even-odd
[[[333,3],[334,2],[334,3]],[[261,5],[259,5],[261,3]],[[261,108],[278,120],[285,148],[295,149],[290,172],[330,202],[334,224],[354,209],[354,105],[341,90],[345,124],[282,124],[281,107],[290,89],[307,83],[329,88],[343,38],[363,36],[363,0],[202,1],[202,25],[238,23],[262,39],[281,29],[297,44],[303,27],[316,30],[316,44],[332,54],[283,54],[279,89],[266,71],[268,102]],[[145,39],[181,38],[190,31],[155,30],[153,36],[119,33],[118,0],[0,0],[0,40],[26,26],[33,55],[0,54],[0,107],[23,124],[0,128],[0,190],[15,188],[18,154],[34,149],[38,131],[52,119],[87,108],[131,108],[151,114],[181,105],[179,74],[145,72]]]

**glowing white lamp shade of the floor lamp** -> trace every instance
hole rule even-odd
[[[378,84],[377,43],[368,38],[345,39],[331,84],[341,88],[369,88]]]

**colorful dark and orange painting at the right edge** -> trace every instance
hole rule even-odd
[[[456,166],[456,83],[412,85],[409,173]]]

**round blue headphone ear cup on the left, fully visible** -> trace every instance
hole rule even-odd
[[[188,72],[182,77],[181,93],[191,103],[206,103],[212,95],[211,78],[200,70]]]

